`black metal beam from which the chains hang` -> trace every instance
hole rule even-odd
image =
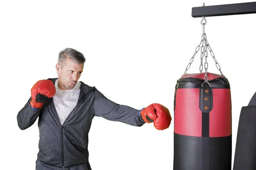
[[[215,17],[224,15],[255,14],[256,2],[233,3],[192,8],[192,17]]]

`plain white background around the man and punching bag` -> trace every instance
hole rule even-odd
[[[174,88],[202,35],[192,7],[245,0],[9,0],[0,3],[0,156],[3,170],[34,170],[37,121],[26,130],[17,113],[40,79],[57,77],[64,48],[87,61],[79,79],[119,104],[141,109],[151,103],[169,108]],[[239,114],[256,91],[256,14],[207,17],[205,32],[225,77],[233,110],[233,152]],[[208,72],[219,74],[212,57]],[[187,73],[198,73],[200,54]],[[100,117],[89,133],[93,170],[172,170],[174,119],[169,129],[132,127]],[[233,161],[232,161],[233,165]]]

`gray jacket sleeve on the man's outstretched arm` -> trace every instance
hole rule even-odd
[[[126,105],[119,105],[101,92],[95,90],[94,116],[100,116],[111,121],[118,121],[132,126],[142,126],[145,122],[139,119],[140,110]]]

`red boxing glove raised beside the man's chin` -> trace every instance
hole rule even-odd
[[[31,88],[30,105],[32,108],[41,108],[47,97],[55,95],[56,89],[53,82],[49,79],[39,80]]]

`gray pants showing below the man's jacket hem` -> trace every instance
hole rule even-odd
[[[67,168],[59,168],[59,167],[52,167],[43,162],[37,160],[35,164],[35,170],[92,170],[90,167],[90,163],[81,164],[74,167],[67,167]]]

